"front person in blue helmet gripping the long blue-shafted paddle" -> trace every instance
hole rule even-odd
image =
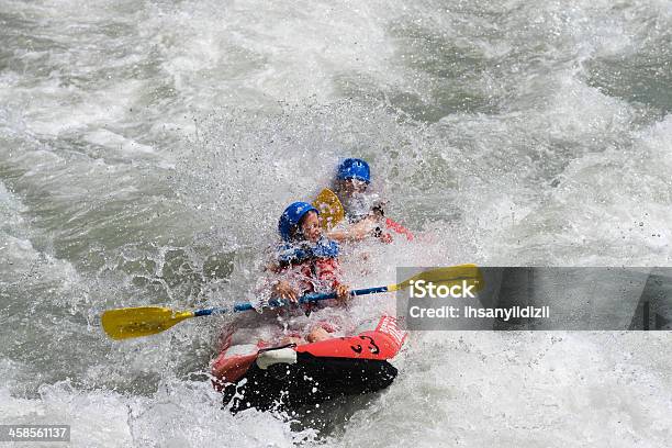
[[[290,204],[278,222],[282,242],[275,253],[271,270],[281,276],[272,288],[272,294],[296,303],[299,298],[312,292],[336,292],[337,301],[349,298],[348,285],[340,282],[338,244],[327,238],[320,225],[320,212],[307,202]],[[316,304],[302,304],[306,314]],[[325,323],[313,327],[307,341],[331,337],[334,328]]]

